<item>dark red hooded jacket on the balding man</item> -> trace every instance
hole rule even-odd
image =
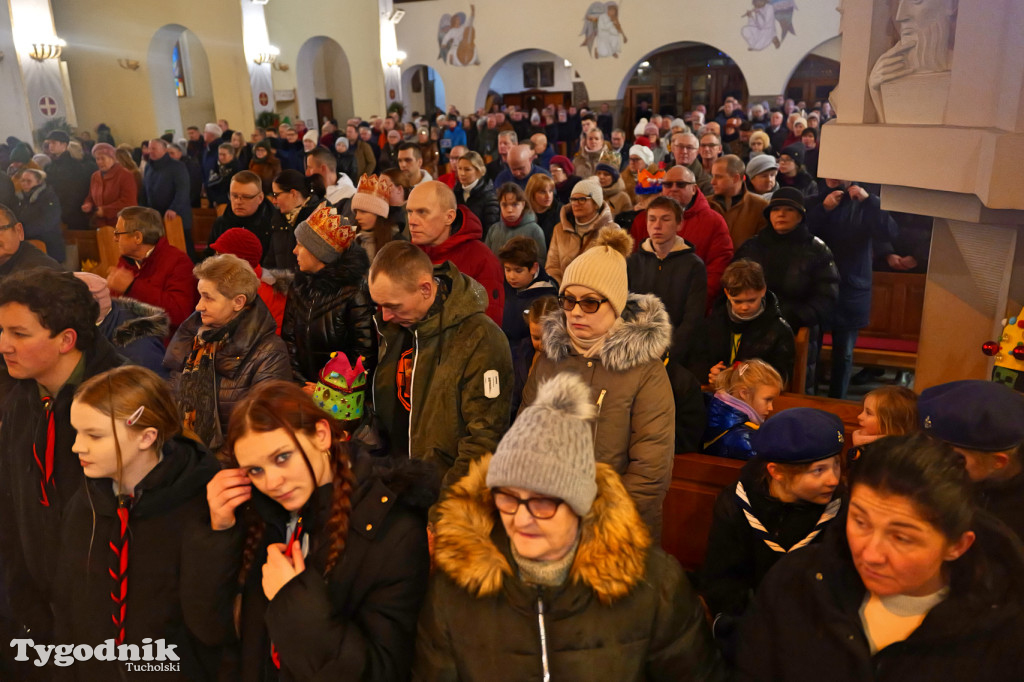
[[[452,236],[442,244],[422,248],[434,265],[451,260],[460,272],[479,282],[487,292],[487,316],[502,326],[505,310],[505,268],[498,257],[480,240],[483,227],[480,219],[466,206],[452,223]]]

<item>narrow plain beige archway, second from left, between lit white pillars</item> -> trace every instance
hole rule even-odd
[[[295,97],[299,118],[308,128],[319,129],[326,119],[344,121],[354,116],[352,71],[338,41],[313,36],[302,43],[296,59]]]

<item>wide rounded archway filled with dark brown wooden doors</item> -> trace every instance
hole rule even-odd
[[[689,41],[648,52],[618,89],[630,127],[647,110],[682,116],[703,104],[713,112],[728,96],[746,101],[746,79],[732,57],[713,45]]]

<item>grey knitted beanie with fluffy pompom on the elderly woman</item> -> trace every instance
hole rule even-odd
[[[590,387],[563,372],[541,384],[529,406],[498,443],[487,487],[521,487],[564,500],[586,516],[597,497]]]

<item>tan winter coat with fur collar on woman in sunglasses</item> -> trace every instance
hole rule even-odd
[[[675,455],[676,404],[662,361],[672,342],[669,313],[656,296],[630,294],[622,323],[608,332],[594,358],[573,349],[561,311],[545,317],[542,326],[544,354],[523,388],[519,411],[534,402],[546,379],[560,372],[580,375],[599,410],[594,456],[623,477],[657,544]]]

